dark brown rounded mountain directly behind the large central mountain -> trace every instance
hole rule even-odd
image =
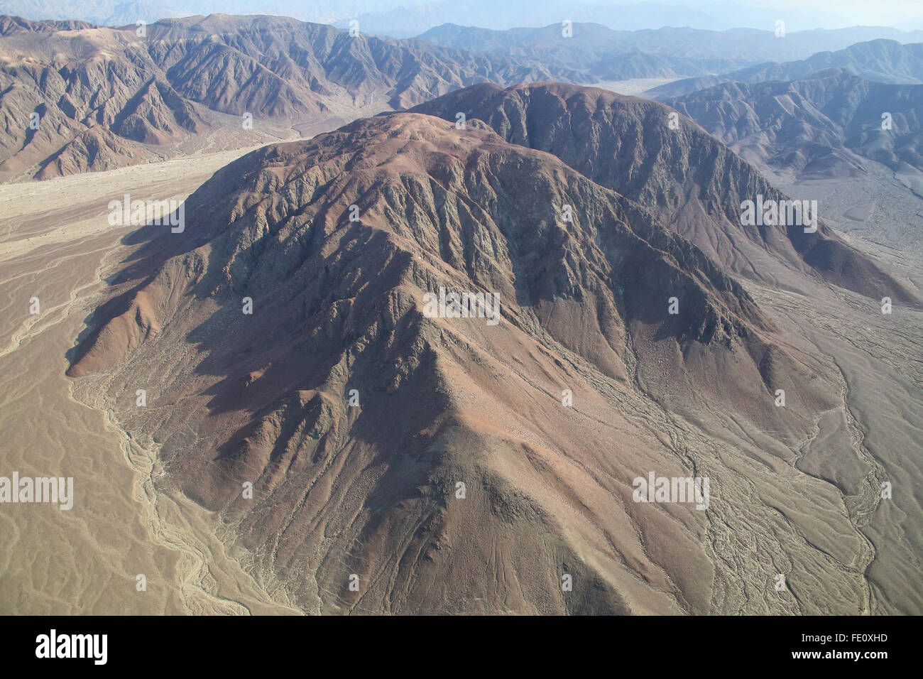
[[[649,207],[729,271],[782,285],[795,285],[791,270],[816,273],[869,297],[894,291],[919,304],[822,220],[813,234],[791,224],[741,225],[743,201],[785,196],[701,127],[686,121],[672,129],[672,109],[661,103],[559,83],[483,84],[413,110],[450,120],[462,112],[509,142],[556,155],[596,184]],[[788,271],[776,268],[779,263]]]

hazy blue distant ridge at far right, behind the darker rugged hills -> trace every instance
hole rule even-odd
[[[769,80],[796,80],[827,68],[843,68],[862,78],[885,83],[920,84],[923,83],[923,43],[902,44],[894,40],[857,42],[838,52],[820,52],[799,61],[769,62],[720,76],[668,82],[646,94],[655,99],[667,99],[722,82],[755,84]]]

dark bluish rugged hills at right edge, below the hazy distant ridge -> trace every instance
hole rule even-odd
[[[923,198],[923,85],[829,69],[793,82],[725,83],[665,103],[773,172],[799,179],[864,174],[868,159]]]

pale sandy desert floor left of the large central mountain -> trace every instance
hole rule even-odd
[[[0,613],[296,612],[224,552],[198,505],[152,493],[150,457],[64,374],[134,228],[108,224],[108,200],[185,199],[244,152],[0,186],[0,476],[73,477],[75,495],[69,511],[4,504]]]

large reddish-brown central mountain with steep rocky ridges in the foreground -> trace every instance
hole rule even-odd
[[[187,200],[183,233],[136,237],[70,374],[306,611],[736,606],[725,587],[771,566],[715,559],[714,522],[780,540],[790,500],[749,484],[833,405],[826,369],[652,212],[433,116],[250,153]],[[440,288],[498,313],[434,317]],[[722,501],[634,502],[652,470]]]

